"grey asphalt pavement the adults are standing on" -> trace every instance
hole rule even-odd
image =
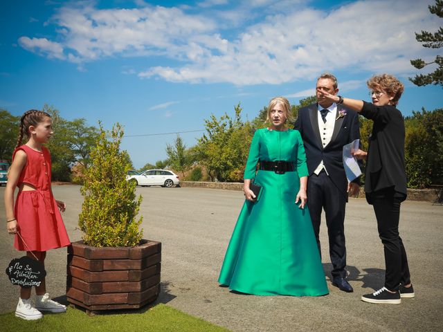
[[[262,297],[233,293],[217,284],[230,234],[244,202],[242,192],[189,187],[138,187],[137,191],[143,196],[143,237],[162,242],[162,292],[158,302],[232,331],[443,329],[443,205],[402,203],[400,234],[408,252],[416,297],[389,305],[368,304],[360,299],[383,286],[384,279],[383,247],[374,212],[365,199],[350,199],[345,219],[348,279],[354,293],[344,293],[331,285],[323,220],[320,240],[329,295]],[[53,192],[67,204],[63,216],[71,241],[81,239],[80,187],[54,186]],[[0,216],[4,221],[3,194],[1,187]],[[12,243],[4,223],[0,232],[0,313],[15,310],[19,296],[19,288],[10,284],[4,272],[12,258],[21,256]],[[48,252],[46,270],[48,291],[63,300],[66,248]]]

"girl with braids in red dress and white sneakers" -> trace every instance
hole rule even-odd
[[[12,155],[8,184],[5,190],[6,221],[8,232],[15,234],[14,246],[26,250],[30,258],[42,264],[46,250],[69,246],[68,234],[59,210],[66,204],[55,201],[51,190],[51,155],[44,143],[53,134],[51,116],[43,111],[30,110],[20,120],[17,147]],[[26,144],[21,145],[24,136]],[[14,205],[15,188],[19,187]],[[21,287],[15,315],[24,320],[42,318],[40,311],[63,313],[66,306],[50,299],[45,280],[35,287],[35,306],[30,301],[31,288]]]

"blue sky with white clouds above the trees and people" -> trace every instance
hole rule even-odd
[[[124,138],[136,168],[166,158],[175,133],[204,129],[211,113],[232,115],[240,102],[253,119],[276,95],[297,104],[323,71],[341,95],[365,100],[365,81],[391,73],[406,86],[404,115],[432,110],[443,107],[442,88],[408,77],[419,73],[410,59],[438,54],[414,34],[442,25],[433,3],[1,1],[0,108],[50,104],[68,120],[120,122],[128,136],[172,133]],[[190,147],[202,133],[180,135]]]

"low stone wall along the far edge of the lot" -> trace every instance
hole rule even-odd
[[[197,182],[197,181],[181,181],[181,187],[195,187],[208,189],[223,189],[223,190],[243,190],[243,183],[234,182]],[[363,188],[360,189],[360,199],[365,198]],[[407,201],[426,201],[437,203],[437,191],[435,189],[408,189]]]

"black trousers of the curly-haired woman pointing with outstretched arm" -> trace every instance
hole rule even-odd
[[[406,250],[399,235],[400,204],[404,198],[395,192],[372,195],[379,237],[385,253],[385,287],[397,291],[399,284],[410,284],[410,273]]]

